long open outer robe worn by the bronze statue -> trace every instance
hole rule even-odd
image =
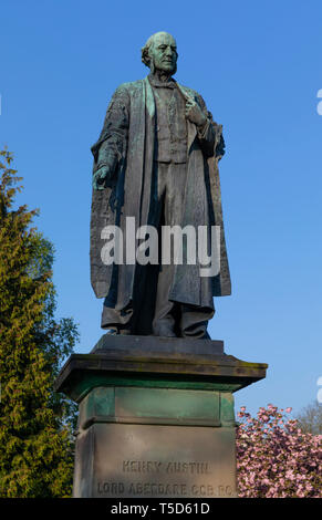
[[[201,96],[177,83],[186,98],[194,98],[204,113]],[[113,119],[111,123],[111,114]],[[94,190],[91,215],[91,282],[97,298],[107,297],[107,304],[117,311],[128,308],[136,284],[135,263],[120,266],[103,263],[101,251],[105,243],[102,230],[118,226],[125,233],[125,218],[134,217],[135,227],[153,223],[156,205],[154,189],[154,146],[156,139],[155,100],[148,79],[122,84],[107,107],[104,126],[97,143],[92,147],[93,173],[100,167],[101,149],[117,154],[114,181],[110,187]],[[187,174],[184,195],[181,228],[220,226],[220,271],[212,278],[199,275],[199,266],[181,264],[174,269],[170,300],[201,308],[212,306],[212,297],[231,293],[230,274],[222,223],[222,209],[218,160],[224,155],[222,127],[210,119],[216,134],[214,154],[206,157],[199,145],[196,125],[187,121]],[[211,154],[208,154],[211,155]],[[106,300],[105,300],[106,301]],[[108,303],[110,302],[110,303]]]

